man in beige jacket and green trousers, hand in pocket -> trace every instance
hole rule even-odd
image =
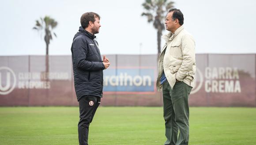
[[[166,45],[158,58],[156,85],[163,92],[167,138],[164,145],[188,145],[188,95],[194,86],[196,59],[195,40],[184,30],[183,21],[179,9],[169,10],[165,24],[170,32],[163,36]]]

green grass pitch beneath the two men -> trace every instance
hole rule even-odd
[[[77,145],[78,107],[0,107],[0,145]],[[90,145],[163,145],[162,107],[99,107]],[[190,108],[190,145],[256,145],[256,108]]]

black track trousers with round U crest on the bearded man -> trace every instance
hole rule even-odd
[[[88,145],[89,125],[98,108],[97,98],[94,96],[85,96],[79,100],[79,123],[78,138],[79,145]]]

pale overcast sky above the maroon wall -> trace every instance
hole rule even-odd
[[[256,0],[173,0],[196,53],[256,53]],[[44,55],[45,42],[32,28],[49,15],[57,22],[50,55],[70,55],[80,16],[101,16],[96,34],[101,54],[156,54],[157,31],[141,17],[144,0],[1,0],[0,56]],[[167,33],[167,31],[163,31]],[[163,43],[164,40],[162,40]],[[141,44],[141,45],[140,45]]]

